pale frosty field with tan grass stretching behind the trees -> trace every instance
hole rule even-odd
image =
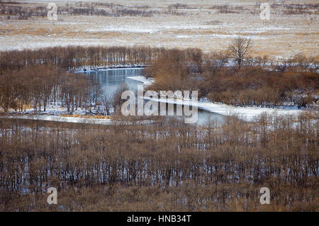
[[[77,1],[28,0],[29,7],[57,7]],[[94,1],[82,1],[94,2]],[[99,1],[100,3],[106,3]],[[267,1],[281,4],[282,1]],[[152,16],[69,16],[57,21],[45,17],[0,21],[0,50],[35,49],[65,45],[148,45],[155,47],[199,47],[225,50],[236,35],[254,41],[254,55],[286,58],[303,52],[318,53],[318,9],[312,14],[288,15],[271,8],[270,20],[259,18],[259,1],[107,1],[116,9],[154,11]],[[318,1],[284,1],[284,4],[316,4]],[[180,4],[180,6],[176,5]],[[118,5],[118,6],[117,6]],[[228,5],[228,12],[218,6]]]

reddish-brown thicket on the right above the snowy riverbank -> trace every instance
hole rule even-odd
[[[238,69],[227,53],[165,50],[146,73],[151,90],[198,90],[201,97],[235,106],[314,106],[319,74],[315,58],[296,55],[284,62],[246,57]]]

